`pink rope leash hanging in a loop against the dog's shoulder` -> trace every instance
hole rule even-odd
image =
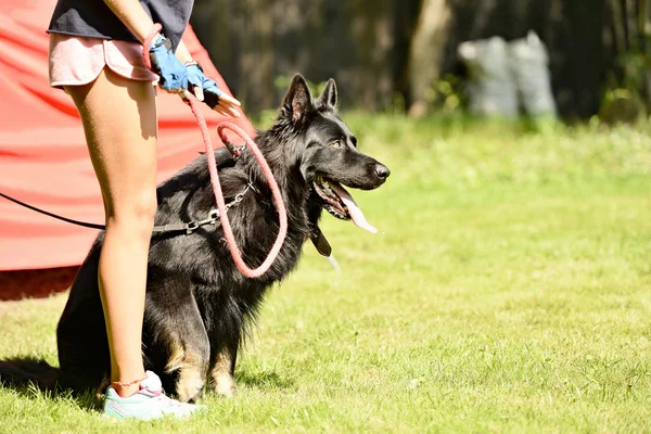
[[[154,36],[156,36],[156,34],[158,34],[161,29],[161,24],[154,24],[154,28],[142,43],[142,62],[149,69],[152,68],[152,63],[149,56],[149,49]],[[269,251],[269,255],[267,255],[265,261],[260,264],[258,268],[251,269],[242,259],[242,253],[240,252],[240,247],[238,247],[235,237],[233,235],[233,230],[228,219],[226,202],[224,200],[224,193],[221,192],[221,184],[219,183],[219,175],[217,175],[217,162],[215,161],[215,150],[213,148],[213,141],[210,140],[210,133],[208,131],[206,119],[201,114],[197,107],[199,100],[196,100],[195,97],[192,95],[189,91],[187,91],[184,97],[182,95],[181,98],[183,98],[186,104],[188,104],[192,110],[192,114],[196,118],[196,123],[199,124],[199,127],[201,129],[201,136],[203,137],[203,141],[206,148],[206,156],[208,158],[208,170],[210,173],[210,181],[213,182],[213,192],[215,193],[215,199],[217,201],[217,209],[219,209],[219,217],[221,219],[221,226],[224,227],[224,235],[226,237],[228,248],[230,250],[231,256],[235,261],[235,266],[242,272],[242,275],[244,275],[247,278],[258,278],[269,270],[271,264],[273,264],[273,261],[276,260],[276,257],[278,256],[278,253],[282,247],[282,243],[284,242],[284,239],[288,234],[288,214],[284,206],[284,202],[282,200],[282,194],[280,194],[280,189],[278,188],[278,183],[273,178],[273,174],[271,173],[271,169],[269,168],[265,156],[257,148],[253,139],[251,139],[251,137],[248,137],[248,135],[237,125],[228,122],[220,123],[217,126],[217,133],[221,138],[221,141],[224,141],[225,143],[228,142],[228,138],[226,137],[225,130],[230,129],[231,131],[240,136],[242,139],[244,139],[244,141],[251,149],[251,152],[257,159],[258,164],[260,165],[260,168],[263,169],[263,173],[265,174],[265,177],[267,178],[267,182],[269,183],[269,188],[271,189],[271,194],[273,195],[273,201],[276,202],[276,208],[278,209],[280,230],[278,231],[276,242],[273,243],[271,251]]]

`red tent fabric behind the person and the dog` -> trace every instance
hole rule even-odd
[[[102,199],[81,123],[72,99],[48,85],[44,30],[54,4],[55,0],[0,3],[0,192],[69,218],[101,224]],[[228,92],[191,28],[184,41],[206,75]],[[162,181],[195,158],[203,141],[178,97],[159,92],[158,107]],[[214,142],[219,143],[214,131],[222,118],[207,107],[204,113]],[[253,133],[248,120],[238,123]],[[97,233],[0,197],[0,271],[77,266]]]

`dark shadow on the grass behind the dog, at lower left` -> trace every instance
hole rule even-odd
[[[11,390],[29,399],[72,399],[80,408],[102,411],[102,403],[94,391],[82,393],[58,384],[60,369],[43,359],[15,357],[0,360],[0,391]]]

